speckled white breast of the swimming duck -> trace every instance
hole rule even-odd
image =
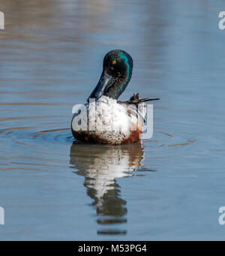
[[[86,107],[89,130],[85,133],[109,143],[120,144],[129,138],[130,126],[138,123],[136,114],[128,114],[126,105],[118,104],[116,100],[106,96],[87,104]]]

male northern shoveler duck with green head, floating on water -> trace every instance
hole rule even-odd
[[[77,128],[77,117],[74,114],[71,122],[71,131],[77,140],[94,143],[124,144],[136,143],[140,140],[145,116],[145,107],[137,110],[139,104],[158,98],[139,98],[134,94],[127,101],[118,101],[130,82],[133,69],[133,60],[123,50],[112,50],[104,57],[103,72],[94,91],[88,98],[94,99],[95,110],[91,111],[92,103],[86,104],[87,127],[90,127],[91,117],[95,116],[95,129]],[[93,126],[93,124],[92,124]]]

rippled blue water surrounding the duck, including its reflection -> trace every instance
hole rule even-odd
[[[223,1],[2,0],[1,240],[224,239]],[[104,55],[126,50],[121,95],[154,103],[154,135],[74,143],[71,110]]]

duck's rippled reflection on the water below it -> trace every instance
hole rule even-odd
[[[120,186],[115,178],[129,177],[142,160],[142,144],[96,145],[74,143],[71,146],[71,164],[78,175],[85,176],[84,185],[96,207],[98,224],[104,228],[99,234],[127,233],[120,229],[126,223],[126,201],[120,197]]]

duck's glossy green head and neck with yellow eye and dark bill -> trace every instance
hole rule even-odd
[[[130,81],[133,60],[123,50],[112,50],[104,57],[103,71],[89,98],[97,101],[102,95],[118,99]],[[89,101],[88,98],[88,101]]]

